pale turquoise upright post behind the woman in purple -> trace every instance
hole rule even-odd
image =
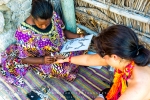
[[[61,0],[61,6],[66,29],[76,33],[77,26],[75,19],[74,0]]]

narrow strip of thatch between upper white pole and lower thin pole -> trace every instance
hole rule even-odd
[[[126,18],[124,16],[121,16],[112,12],[108,12],[106,10],[97,9],[97,8],[76,7],[76,9],[84,13],[87,13],[87,16],[92,15],[94,17],[98,17],[101,20],[110,22],[112,24],[123,24],[123,25],[129,26],[133,29],[136,29],[138,31],[141,31],[143,33],[150,35],[149,24],[139,22],[139,21]]]

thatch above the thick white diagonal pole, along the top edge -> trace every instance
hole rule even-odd
[[[91,4],[83,2],[84,0],[74,0],[74,1],[76,3],[76,6],[97,8]],[[94,0],[94,1],[104,3],[104,0]],[[118,8],[124,8],[128,11],[133,11],[138,14],[150,16],[149,0],[105,0],[105,4],[115,6]]]

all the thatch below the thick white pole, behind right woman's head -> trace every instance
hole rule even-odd
[[[133,19],[109,12],[109,16],[104,10],[96,8],[76,7],[76,18],[78,23],[89,29],[100,33],[101,30],[113,24],[123,24],[134,30],[141,43],[150,49],[150,25]]]

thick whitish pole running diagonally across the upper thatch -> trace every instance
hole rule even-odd
[[[147,17],[142,16],[140,14],[136,14],[135,12],[129,12],[129,11],[123,9],[123,8],[118,8],[118,7],[115,7],[115,6],[109,6],[109,5],[103,4],[101,2],[94,1],[94,0],[81,0],[81,1],[84,1],[84,2],[89,3],[91,5],[94,5],[98,8],[109,10],[113,13],[118,14],[118,15],[122,15],[122,16],[125,16],[127,18],[131,18],[131,19],[134,19],[134,20],[137,20],[137,21],[140,21],[140,22],[150,24],[150,17],[148,17],[148,16]]]

